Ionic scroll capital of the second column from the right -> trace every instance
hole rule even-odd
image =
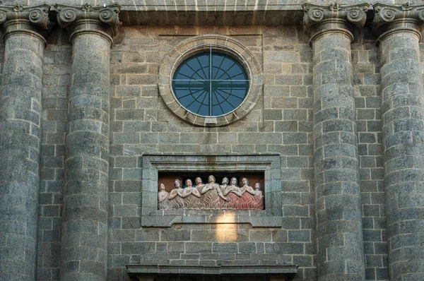
[[[304,11],[303,25],[305,32],[311,38],[310,44],[315,38],[327,32],[342,32],[351,37],[353,26],[361,27],[367,19],[367,3],[356,5],[317,5],[305,3],[302,5]]]

